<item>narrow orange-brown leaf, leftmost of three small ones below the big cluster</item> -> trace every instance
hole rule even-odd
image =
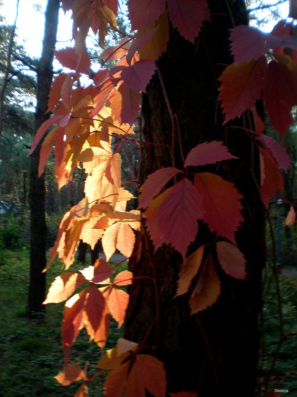
[[[178,288],[176,296],[183,295],[189,291],[193,278],[198,273],[202,263],[204,253],[204,246],[201,246],[193,254],[187,257],[181,265],[181,270],[178,276]]]

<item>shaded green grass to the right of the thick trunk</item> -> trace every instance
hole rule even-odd
[[[260,384],[264,389],[268,382],[269,391],[288,389],[288,396],[297,396],[297,268],[281,269],[278,276],[279,292],[272,269],[267,266],[265,273],[264,305],[262,322],[260,321]]]

